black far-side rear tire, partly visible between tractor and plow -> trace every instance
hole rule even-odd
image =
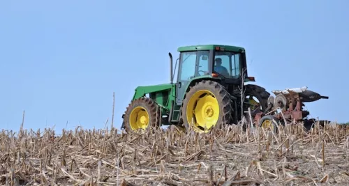
[[[268,93],[265,88],[262,88],[255,84],[247,84],[245,86],[246,92],[245,95],[252,95],[258,99],[260,106],[262,107],[261,111],[265,111],[268,107],[268,98],[270,93]]]

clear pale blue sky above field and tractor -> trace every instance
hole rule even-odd
[[[1,1],[0,125],[102,128],[138,85],[170,81],[168,52],[246,48],[267,91],[308,86],[313,117],[349,121],[349,1]]]

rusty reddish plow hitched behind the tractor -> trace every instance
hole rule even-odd
[[[268,107],[265,112],[255,110],[253,113],[254,120],[262,127],[267,127],[274,120],[281,122],[295,123],[315,122],[315,119],[308,119],[309,111],[304,110],[305,102],[315,102],[320,99],[328,99],[328,96],[320,95],[314,91],[309,91],[308,87],[286,88],[285,90],[272,91],[273,95],[268,98]]]

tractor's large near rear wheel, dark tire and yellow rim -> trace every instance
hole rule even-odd
[[[186,93],[181,118],[187,129],[190,127],[195,132],[207,133],[214,127],[221,128],[232,123],[232,111],[228,91],[217,82],[203,80]]]

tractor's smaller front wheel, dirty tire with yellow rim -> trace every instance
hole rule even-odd
[[[147,115],[140,118],[140,120],[146,122],[145,125],[135,125],[135,118],[130,117],[131,114],[132,116],[135,116],[133,115],[133,111],[143,111],[143,113]],[[154,102],[154,100],[146,97],[138,98],[137,100],[133,100],[130,104],[128,104],[124,115],[123,127],[125,128],[126,132],[142,132],[147,130],[149,126],[157,128],[161,123],[161,117],[159,114],[161,114],[161,107],[158,107],[158,114],[156,114],[156,102]],[[158,116],[158,119],[156,119],[156,115]]]

